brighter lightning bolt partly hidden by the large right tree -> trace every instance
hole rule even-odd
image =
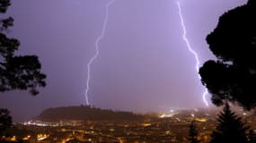
[[[182,36],[182,38],[186,42],[190,53],[192,53],[195,56],[195,59],[196,59],[196,70],[199,72],[199,64],[200,64],[200,62],[199,62],[199,55],[190,46],[190,41],[187,38],[187,29],[186,29],[186,26],[184,24],[184,19],[183,19],[182,13],[181,13],[181,3],[179,1],[177,1],[177,5],[178,5],[178,8],[179,8],[179,15],[180,15],[180,19],[181,19],[181,27],[183,29],[183,36]],[[201,80],[200,75],[199,75],[199,80]],[[208,94],[208,91],[207,91],[207,88],[205,88],[205,92],[203,93],[202,98],[203,98],[203,101],[204,101],[205,105],[209,106],[209,104],[207,103],[207,98],[206,98],[207,94]]]

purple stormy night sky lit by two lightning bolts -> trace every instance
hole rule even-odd
[[[17,55],[39,55],[48,86],[1,93],[0,107],[25,121],[49,107],[85,105],[86,64],[101,35],[109,0],[13,0],[9,36]],[[116,0],[92,64],[89,101],[101,108],[141,112],[206,107],[196,60],[184,40],[176,0]],[[187,38],[200,63],[214,58],[206,36],[218,17],[246,0],[181,0]],[[207,97],[210,102],[210,97]]]

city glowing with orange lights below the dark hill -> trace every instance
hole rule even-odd
[[[170,110],[162,114],[146,114],[143,120],[57,122],[29,121],[16,123],[11,136],[1,137],[11,142],[28,143],[187,143],[189,125],[196,121],[198,138],[207,143],[216,128],[217,110]],[[255,128],[255,117],[241,112],[246,122]]]

